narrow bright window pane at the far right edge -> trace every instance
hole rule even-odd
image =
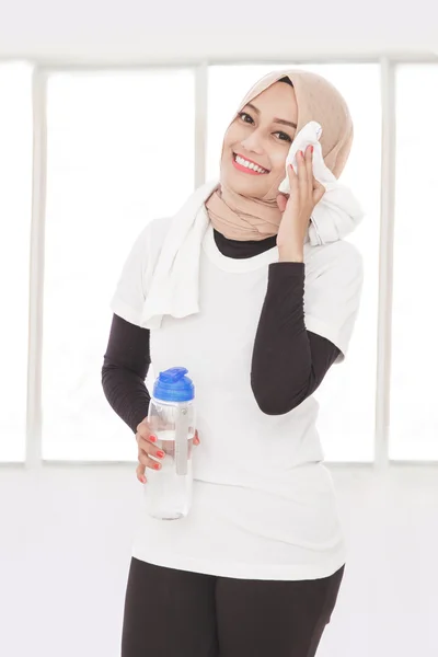
[[[390,458],[397,460],[438,459],[437,89],[437,65],[401,66],[396,71]],[[423,129],[413,120],[418,107]]]

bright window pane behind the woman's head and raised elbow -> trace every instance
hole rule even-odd
[[[219,172],[223,132],[250,87],[273,66],[221,66],[210,69],[208,177]],[[366,211],[348,238],[364,255],[365,285],[360,313],[345,362],[333,367],[315,393],[321,404],[319,430],[327,461],[372,461],[380,217],[381,99],[378,65],[309,65],[346,99],[355,124],[355,141],[342,181],[350,185]]]

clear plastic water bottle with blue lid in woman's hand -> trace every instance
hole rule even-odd
[[[172,367],[157,378],[148,422],[165,457],[160,470],[148,471],[147,512],[160,520],[187,516],[192,505],[192,447],[195,437],[195,387],[185,367]]]

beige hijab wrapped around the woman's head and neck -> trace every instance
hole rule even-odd
[[[235,114],[285,77],[292,82],[297,99],[296,135],[310,120],[320,123],[320,143],[324,162],[332,173],[339,177],[351,149],[353,122],[344,97],[321,76],[302,70],[273,71],[250,89]],[[264,240],[276,235],[281,221],[281,212],[277,206],[278,187],[285,176],[286,172],[274,181],[263,198],[242,196],[220,183],[206,201],[214,228],[231,240]]]

